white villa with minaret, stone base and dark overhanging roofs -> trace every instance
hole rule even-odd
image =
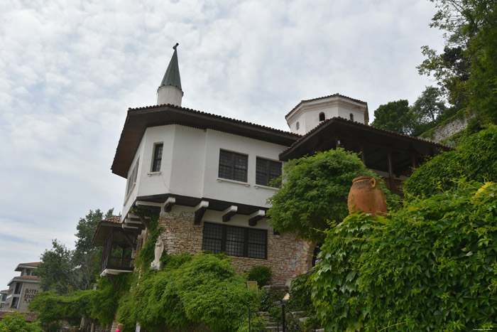
[[[126,246],[133,244],[132,259],[148,239],[138,208],[159,213],[168,254],[225,252],[237,271],[271,267],[272,283],[285,284],[310,269],[315,250],[295,234],[275,232],[266,218],[267,200],[278,191],[271,180],[286,161],[343,147],[400,193],[413,166],[449,149],[368,126],[367,103],[338,93],[302,100],[285,117],[289,132],[187,109],[182,97],[175,48],[157,105],[126,115],[111,166],[127,179],[122,217],[102,220],[93,240],[104,247],[102,274],[131,271]]]

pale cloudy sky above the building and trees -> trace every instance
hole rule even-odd
[[[121,211],[111,173],[128,107],[155,104],[178,42],[183,106],[287,130],[300,100],[414,102],[428,0],[4,0],[0,289],[90,209]]]

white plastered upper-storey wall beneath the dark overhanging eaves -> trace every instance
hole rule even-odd
[[[163,144],[163,158],[160,171],[153,172],[156,144]],[[277,189],[256,184],[256,158],[278,161],[278,155],[285,148],[212,129],[195,129],[178,124],[149,127],[129,169],[128,178],[132,178],[133,169],[138,164],[136,183],[126,195],[123,214],[128,213],[136,198],[163,194],[212,198],[268,208],[266,200]],[[246,182],[219,178],[221,150],[248,156]]]

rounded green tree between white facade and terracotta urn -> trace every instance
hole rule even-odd
[[[280,232],[321,241],[328,223],[340,222],[349,213],[352,180],[363,175],[376,176],[356,154],[344,149],[288,161],[278,179],[280,190],[268,200],[271,225]]]

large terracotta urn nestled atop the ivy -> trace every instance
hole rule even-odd
[[[361,210],[370,213],[373,217],[377,214],[386,214],[386,198],[380,188],[380,181],[371,176],[359,176],[352,180],[347,202],[349,213]]]

